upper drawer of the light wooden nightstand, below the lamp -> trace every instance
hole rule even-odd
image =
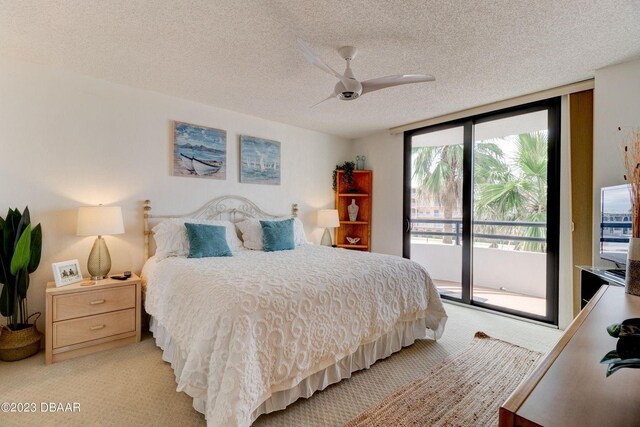
[[[136,285],[53,297],[53,321],[75,319],[136,306]]]

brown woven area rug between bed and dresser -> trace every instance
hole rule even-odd
[[[344,427],[497,426],[500,405],[541,355],[476,332],[469,348]]]

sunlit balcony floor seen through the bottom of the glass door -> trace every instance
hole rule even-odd
[[[460,283],[438,279],[434,279],[433,283],[437,286],[440,294],[460,298],[462,292]],[[538,314],[540,316],[545,316],[547,311],[547,300],[545,298],[483,286],[473,287],[473,299],[485,304],[510,308],[525,313]]]

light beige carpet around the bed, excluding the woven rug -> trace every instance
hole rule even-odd
[[[464,350],[476,331],[545,352],[560,337],[555,329],[452,304],[443,337],[422,340],[366,371],[263,415],[254,426],[341,426],[397,388],[424,376],[445,357]],[[192,400],[175,391],[171,366],[153,339],[45,366],[44,354],[0,362],[0,404],[35,402],[34,414],[0,413],[2,426],[203,426]],[[80,403],[80,412],[42,413],[41,402]]]

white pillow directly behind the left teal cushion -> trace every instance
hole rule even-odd
[[[164,259],[172,256],[189,255],[189,237],[185,222],[191,224],[207,224],[224,226],[227,231],[227,244],[231,252],[242,248],[242,242],[238,239],[236,228],[229,221],[192,219],[192,218],[171,218],[162,221],[153,227],[153,238],[156,241],[156,257]]]

